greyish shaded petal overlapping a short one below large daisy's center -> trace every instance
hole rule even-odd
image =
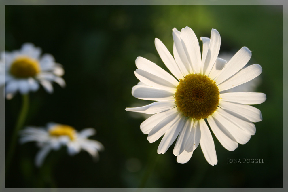
[[[201,132],[199,121],[194,121],[194,123],[191,123],[190,125],[190,133],[188,134],[188,138],[184,147],[185,151],[194,151],[200,143],[200,138]]]

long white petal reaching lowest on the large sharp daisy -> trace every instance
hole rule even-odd
[[[218,160],[211,132],[204,119],[201,119],[199,123],[201,131],[200,147],[204,157],[210,165],[216,165]]]

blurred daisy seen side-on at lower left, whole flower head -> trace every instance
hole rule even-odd
[[[20,143],[36,141],[41,148],[35,157],[37,167],[43,164],[43,161],[50,150],[59,150],[62,145],[67,146],[69,155],[75,155],[81,149],[87,151],[92,157],[98,158],[98,151],[104,149],[103,145],[96,141],[88,139],[96,133],[93,128],[86,128],[77,132],[68,125],[48,123],[47,128],[26,127],[20,131]]]

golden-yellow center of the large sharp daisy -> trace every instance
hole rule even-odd
[[[212,79],[202,74],[189,74],[180,79],[175,93],[177,108],[196,120],[212,115],[219,104],[219,89]]]

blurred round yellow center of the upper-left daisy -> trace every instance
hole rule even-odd
[[[10,68],[10,73],[17,78],[34,77],[39,71],[38,61],[27,56],[16,58]]]

